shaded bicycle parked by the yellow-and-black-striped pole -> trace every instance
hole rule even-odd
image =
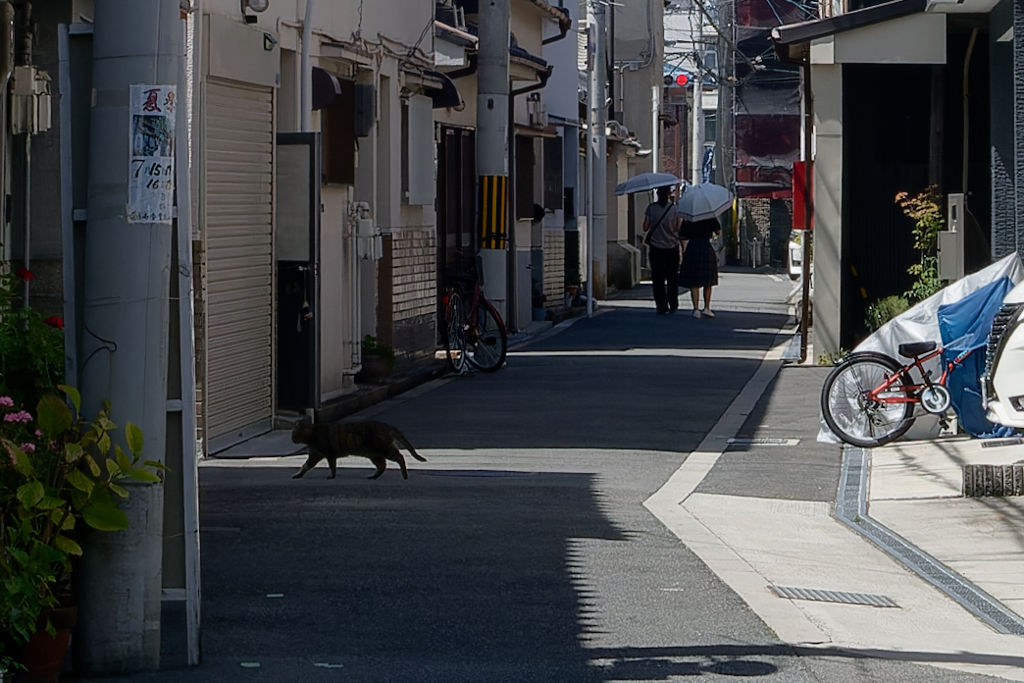
[[[465,373],[468,366],[493,373],[505,364],[508,331],[472,274],[450,272],[441,300],[444,309],[444,351],[449,366]],[[467,366],[468,364],[468,366]]]

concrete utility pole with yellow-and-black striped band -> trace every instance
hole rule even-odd
[[[477,53],[476,175],[480,260],[487,298],[508,319],[510,0],[482,0]]]

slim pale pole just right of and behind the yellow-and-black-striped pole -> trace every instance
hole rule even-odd
[[[593,182],[590,185],[593,223],[587,226],[593,250],[590,252],[593,296],[607,294],[608,275],[608,38],[605,32],[605,4],[591,2],[591,36],[594,40],[594,68],[590,72],[590,156]],[[589,296],[589,295],[588,295]]]

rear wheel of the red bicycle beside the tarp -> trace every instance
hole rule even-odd
[[[828,428],[852,445],[873,449],[902,436],[913,424],[913,403],[890,403],[868,394],[900,373],[902,366],[882,353],[857,353],[840,364],[821,388],[821,413]],[[907,397],[901,387],[911,385],[901,374],[880,398]]]

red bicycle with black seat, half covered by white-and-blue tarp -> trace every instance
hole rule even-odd
[[[851,353],[839,361],[821,388],[821,413],[833,433],[852,445],[885,445],[913,424],[916,405],[926,413],[944,416],[951,402],[946,380],[972,350],[945,364],[938,380],[924,364],[942,353],[936,342],[899,345],[906,365],[876,351]],[[911,371],[916,369],[914,380]],[[944,420],[944,418],[943,418]]]

